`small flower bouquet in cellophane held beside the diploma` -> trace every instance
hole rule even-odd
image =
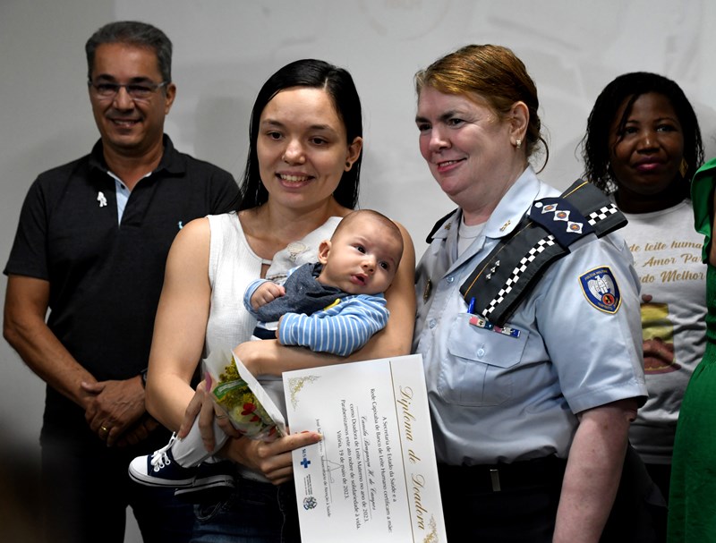
[[[276,403],[233,352],[215,350],[203,365],[207,389],[234,428],[264,441],[286,436],[286,421]]]

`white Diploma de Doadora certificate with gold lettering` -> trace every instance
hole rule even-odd
[[[447,541],[422,355],[283,378],[303,543]]]

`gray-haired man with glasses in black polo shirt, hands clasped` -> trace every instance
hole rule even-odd
[[[30,187],[4,269],[4,336],[47,382],[47,539],[121,543],[131,505],[145,541],[175,543],[191,507],[132,483],[127,466],[169,437],[143,387],[167,252],[193,218],[235,208],[238,187],[164,134],[176,89],[161,30],[110,23],[86,52],[101,139]]]

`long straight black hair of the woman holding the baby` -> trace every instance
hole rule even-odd
[[[321,60],[303,59],[283,68],[268,78],[259,91],[251,110],[249,126],[249,157],[241,184],[242,201],[239,210],[255,208],[268,200],[268,191],[263,186],[259,172],[259,157],[256,144],[259,139],[261,113],[271,98],[281,90],[292,87],[324,89],[333,101],[338,117],[345,124],[346,143],[350,145],[356,137],[363,135],[361,99],[355,89],[351,74],[343,68]],[[345,208],[355,208],[358,203],[358,181],[361,175],[362,151],[350,170],[343,173],[333,197]]]

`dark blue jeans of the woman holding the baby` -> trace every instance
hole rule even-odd
[[[226,502],[196,505],[192,543],[301,541],[294,483],[274,486],[237,477]]]

